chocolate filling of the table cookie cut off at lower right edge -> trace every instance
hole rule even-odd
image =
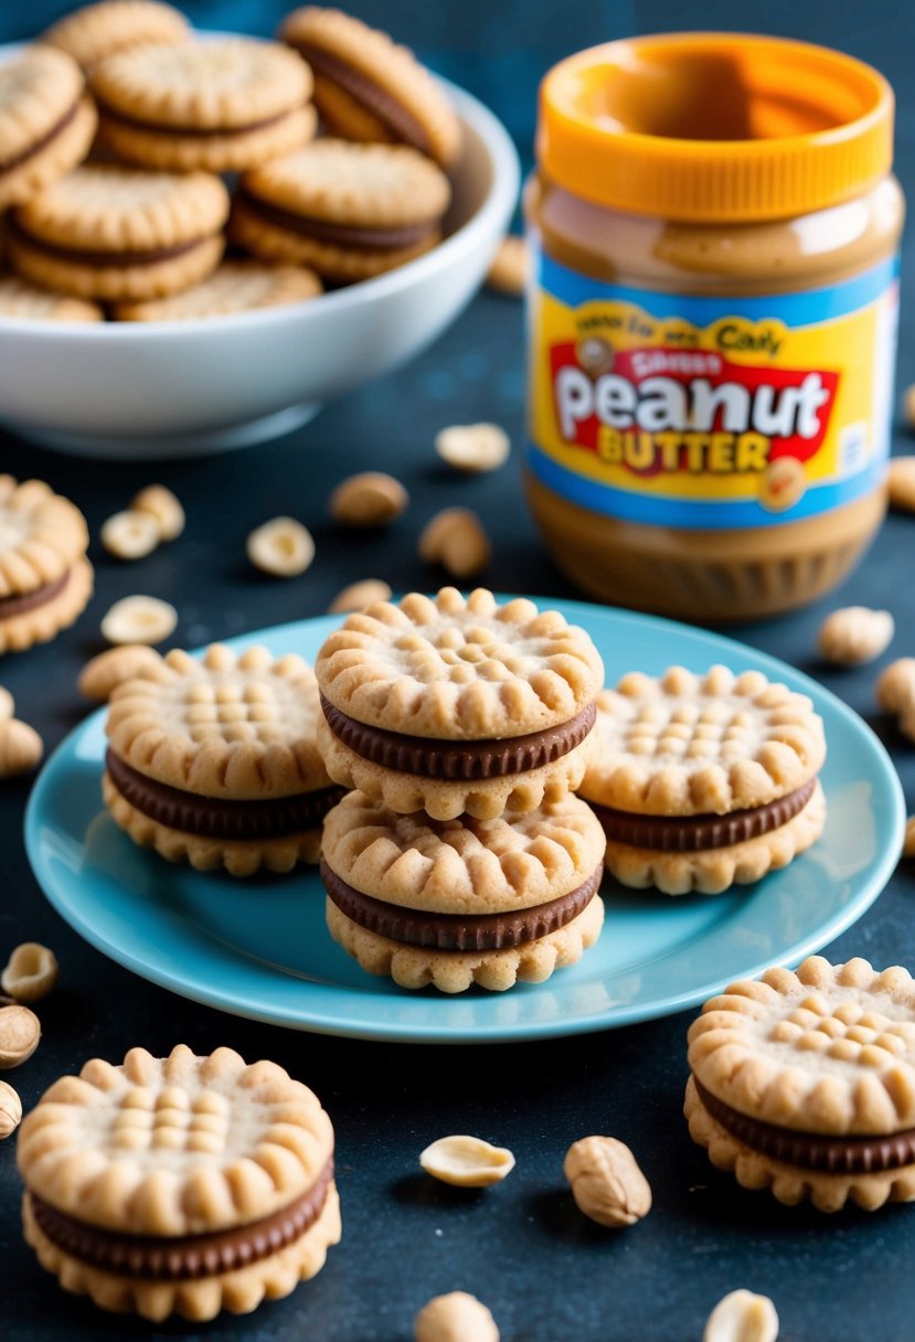
[[[716,1123],[745,1146],[785,1165],[825,1174],[877,1174],[915,1161],[915,1129],[887,1137],[822,1137],[749,1118],[718,1099],[692,1076],[696,1094]]]

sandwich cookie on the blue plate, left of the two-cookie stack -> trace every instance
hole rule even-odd
[[[105,804],[141,848],[197,871],[317,862],[341,797],[315,743],[319,717],[301,658],[173,650],[111,694]]]

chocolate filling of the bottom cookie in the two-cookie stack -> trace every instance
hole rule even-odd
[[[511,946],[525,946],[530,941],[549,937],[551,931],[565,927],[588,907],[601,883],[601,875],[602,866],[584,886],[545,905],[534,905],[531,909],[519,909],[514,913],[472,917],[388,905],[347,886],[335,871],[330,870],[325,859],[321,859],[321,879],[327,894],[339,911],[360,927],[366,927],[378,937],[404,942],[407,946],[451,951],[508,950]]]

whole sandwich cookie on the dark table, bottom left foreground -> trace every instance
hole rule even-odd
[[[341,1236],[318,1098],[231,1048],[93,1059],[23,1119],[17,1161],[42,1267],[119,1314],[248,1314],[319,1272]]]

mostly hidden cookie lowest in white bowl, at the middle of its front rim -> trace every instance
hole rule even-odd
[[[186,322],[205,317],[232,317],[262,307],[307,303],[322,293],[313,270],[302,266],[267,266],[256,260],[227,260],[201,285],[172,298],[146,303],[117,303],[119,322]],[[0,305],[3,289],[0,286]],[[1,311],[0,306],[0,311]]]

